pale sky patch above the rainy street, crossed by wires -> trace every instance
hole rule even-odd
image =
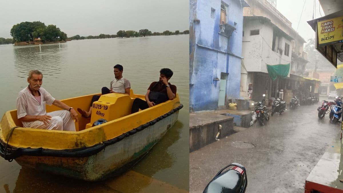
[[[313,9],[314,1],[316,2],[315,12]],[[304,2],[305,7],[303,14],[301,15],[301,10],[303,10]],[[318,0],[277,0],[276,2],[276,9],[279,10],[289,21],[291,21],[293,29],[297,30],[299,23],[298,33],[306,41],[309,38],[315,37],[315,31],[312,30],[307,21],[312,20],[313,13],[315,13],[315,19],[321,17],[320,13],[322,16],[324,16],[324,12],[321,7],[319,12],[319,6],[320,4]]]

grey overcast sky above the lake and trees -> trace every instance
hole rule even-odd
[[[0,37],[12,38],[13,25],[25,21],[54,24],[68,37],[189,29],[188,0],[0,0]]]

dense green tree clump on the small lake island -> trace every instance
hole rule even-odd
[[[11,31],[13,42],[28,42],[35,38],[42,39],[43,42],[66,41],[67,34],[62,32],[56,25],[46,26],[40,21],[21,22],[13,25]]]

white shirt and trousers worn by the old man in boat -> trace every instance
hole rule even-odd
[[[75,123],[67,110],[54,111],[46,113],[46,104],[49,106],[55,101],[44,88],[40,87],[40,104],[31,94],[31,91],[25,87],[19,92],[17,98],[17,117],[22,118],[26,115],[50,115],[49,124],[45,125],[42,121],[22,122],[24,127],[48,129],[48,130],[68,130],[75,131]]]

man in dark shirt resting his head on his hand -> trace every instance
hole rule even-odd
[[[139,109],[147,109],[167,100],[175,99],[176,86],[168,82],[171,76],[173,76],[173,71],[169,68],[162,68],[159,73],[159,81],[150,84],[145,94],[145,101],[139,98],[134,99],[131,113],[138,112]]]

